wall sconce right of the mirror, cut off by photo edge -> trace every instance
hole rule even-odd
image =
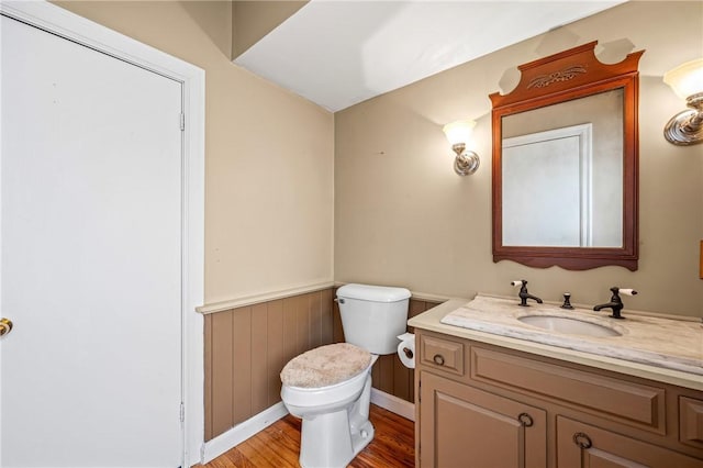
[[[674,145],[703,142],[703,58],[687,62],[663,76],[679,98],[691,108],[679,112],[667,123],[663,136]]]

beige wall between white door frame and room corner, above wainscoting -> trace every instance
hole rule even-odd
[[[230,62],[231,3],[58,4],[205,70],[205,302],[332,281],[333,115]]]

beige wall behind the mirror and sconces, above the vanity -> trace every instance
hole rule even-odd
[[[640,291],[628,309],[703,315],[703,147],[662,137],[684,108],[665,71],[703,56],[702,2],[628,2],[335,114],[335,280],[404,286],[471,297],[531,292],[577,303],[610,299],[617,285]],[[639,269],[528,268],[491,256],[491,123],[488,94],[516,65],[598,40],[631,41],[640,62]],[[539,51],[539,52],[537,52]],[[513,74],[514,75],[514,74]],[[514,82],[514,81],[513,81]],[[454,174],[442,125],[473,118],[479,171]]]

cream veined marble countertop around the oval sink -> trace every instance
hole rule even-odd
[[[512,349],[539,354],[622,374],[703,390],[703,326],[700,321],[674,320],[623,311],[556,304],[517,305],[517,298],[479,294],[473,300],[447,301],[412,317],[410,326]],[[524,315],[577,319],[613,328],[621,336],[593,337],[546,331],[521,322]]]

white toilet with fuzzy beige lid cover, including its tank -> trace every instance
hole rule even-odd
[[[281,371],[281,399],[302,421],[300,465],[346,467],[373,438],[371,366],[405,333],[410,291],[368,285],[337,290],[346,343],[320,346]]]

